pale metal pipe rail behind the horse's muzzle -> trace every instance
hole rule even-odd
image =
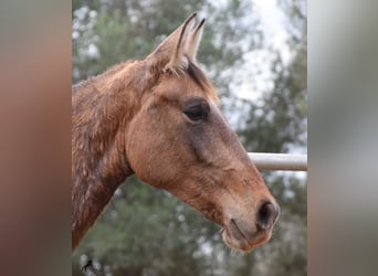
[[[259,170],[307,171],[307,155],[248,152]]]

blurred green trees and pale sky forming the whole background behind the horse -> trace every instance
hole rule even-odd
[[[277,6],[285,14],[286,52],[270,43],[249,0],[74,0],[73,83],[113,64],[143,59],[198,10],[207,18],[198,60],[218,88],[225,117],[244,147],[249,151],[306,151],[306,2],[279,0]],[[265,56],[262,68],[252,68],[249,56]],[[254,72],[253,77],[241,77],[241,67]],[[255,87],[259,96],[242,98],[244,83],[254,87],[253,79],[264,74],[269,75],[266,85]],[[271,242],[251,254],[230,251],[219,226],[133,177],[120,185],[72,255],[72,274],[83,275],[81,266],[93,259],[88,275],[98,276],[306,275],[306,177],[263,176],[282,214]]]

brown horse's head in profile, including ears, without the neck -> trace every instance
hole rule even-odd
[[[250,252],[269,241],[280,208],[223,118],[196,53],[204,20],[191,14],[144,61],[154,85],[125,134],[129,168],[223,227],[223,241]]]

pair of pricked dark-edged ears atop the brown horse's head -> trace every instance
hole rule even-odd
[[[179,71],[185,68],[189,60],[196,60],[196,52],[202,33],[204,20],[202,20],[197,28],[195,25],[195,18],[197,12],[189,15],[189,18],[177,28],[166,40],[164,40],[157,49],[150,54],[164,71]]]

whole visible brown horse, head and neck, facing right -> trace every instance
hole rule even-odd
[[[197,63],[196,17],[144,60],[73,86],[72,251],[132,174],[219,224],[231,248],[270,240],[280,206]]]

